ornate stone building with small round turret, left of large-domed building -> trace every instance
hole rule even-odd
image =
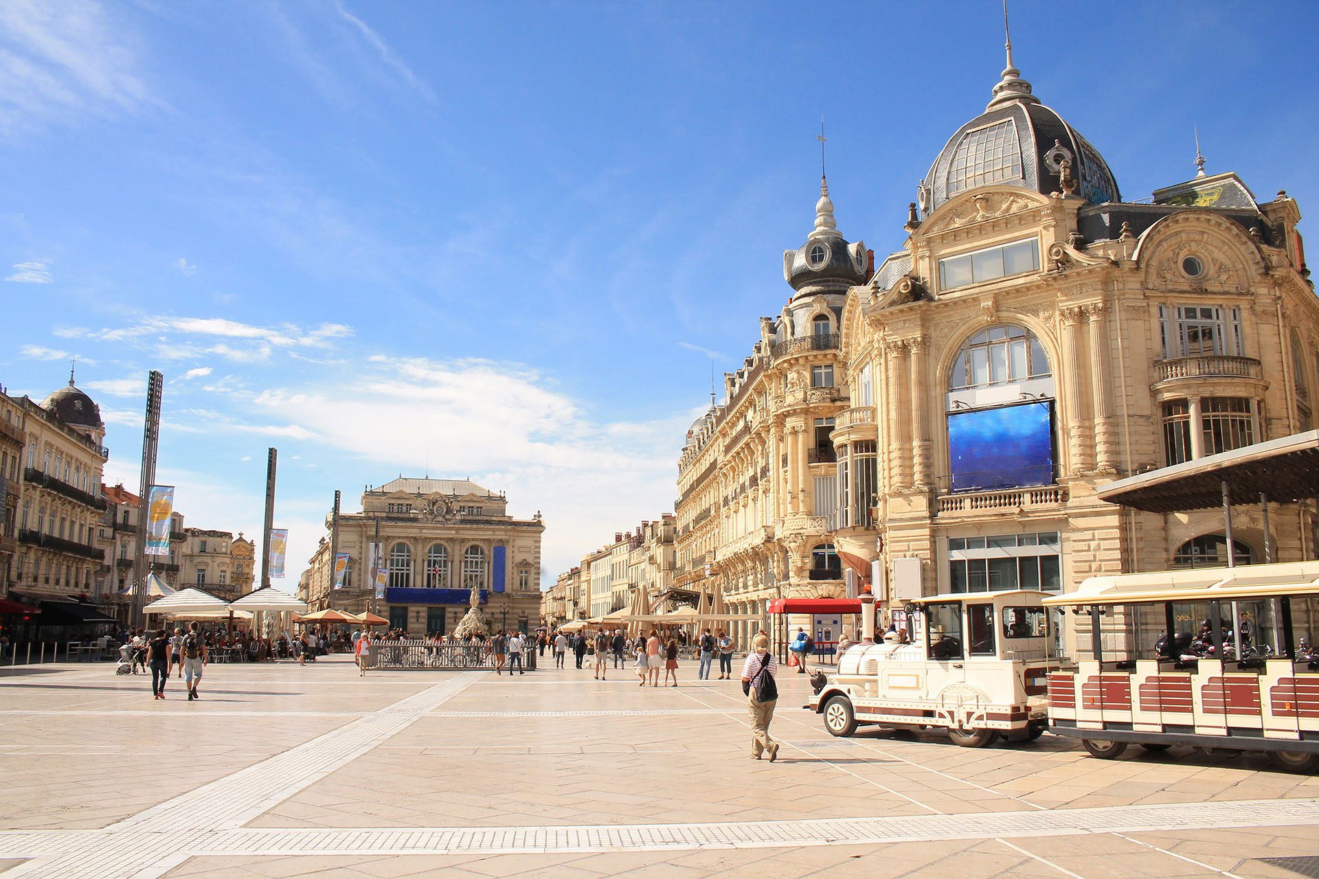
[[[838,231],[820,181],[815,227],[783,253],[793,294],[724,377],[724,403],[691,426],[678,460],[675,586],[723,589],[729,613],[782,597],[844,594],[832,534],[838,484],[830,436],[847,409],[839,322],[871,254]],[[758,627],[735,626],[739,642]]]

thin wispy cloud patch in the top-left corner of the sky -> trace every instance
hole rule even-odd
[[[0,129],[146,103],[131,42],[95,0],[0,3]]]

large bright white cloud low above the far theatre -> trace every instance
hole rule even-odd
[[[429,461],[431,474],[471,476],[506,490],[513,515],[543,511],[550,576],[615,531],[671,511],[690,412],[600,422],[541,373],[479,360],[376,356],[346,373],[343,381],[252,395],[262,414],[252,420],[288,422],[306,439],[359,457],[361,477],[352,482],[419,476]],[[301,453],[314,457],[306,447]],[[306,535],[309,553],[319,536]]]

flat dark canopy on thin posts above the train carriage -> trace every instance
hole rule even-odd
[[[1203,510],[1221,505],[1228,547],[1232,546],[1232,505],[1258,503],[1264,514],[1265,561],[1273,561],[1268,505],[1319,499],[1319,431],[1293,434],[1129,476],[1100,488],[1097,496],[1109,503],[1148,513]],[[1315,522],[1311,534],[1311,557],[1319,557],[1316,544],[1319,522]],[[1233,555],[1228,552],[1229,567]]]

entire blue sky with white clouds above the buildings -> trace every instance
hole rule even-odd
[[[1198,124],[1211,173],[1319,204],[1319,5],[1012,14],[1124,198],[1194,174]],[[993,0],[8,0],[0,383],[77,354],[135,488],[162,370],[160,481],[255,534],[278,447],[293,575],[335,489],[429,468],[542,510],[553,581],[671,509],[711,362],[789,293],[820,117],[839,228],[888,253],[1001,69]]]

